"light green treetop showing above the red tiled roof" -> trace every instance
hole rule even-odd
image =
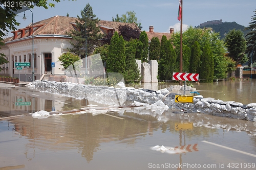
[[[112,17],[112,21],[135,23],[136,26],[138,26],[141,30],[141,23],[138,22],[138,18],[135,15],[136,13],[134,11],[127,11],[126,14],[122,14],[121,17],[119,17],[119,15],[116,14],[116,18]]]

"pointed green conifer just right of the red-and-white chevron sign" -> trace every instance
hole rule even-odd
[[[214,80],[214,57],[210,46],[203,47],[200,82],[212,83]]]

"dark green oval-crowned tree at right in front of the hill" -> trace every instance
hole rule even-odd
[[[248,58],[245,55],[246,41],[241,30],[231,30],[225,38],[225,44],[229,52],[229,57],[237,64],[245,63]]]

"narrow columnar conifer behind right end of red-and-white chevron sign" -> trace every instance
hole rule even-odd
[[[194,45],[191,46],[191,57],[190,57],[190,69],[191,73],[199,73],[201,65],[201,49],[198,41],[194,42]]]

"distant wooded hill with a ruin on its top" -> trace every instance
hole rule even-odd
[[[221,39],[225,37],[230,30],[241,30],[244,33],[244,37],[250,30],[245,30],[246,27],[239,25],[237,22],[222,22],[215,25],[205,25],[204,27],[197,26],[196,28],[212,28],[214,32],[220,32]]]

